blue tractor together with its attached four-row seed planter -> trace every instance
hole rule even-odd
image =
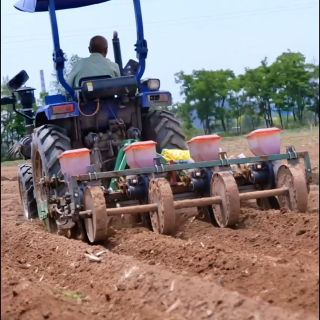
[[[256,156],[228,159],[219,150],[219,136],[185,142],[172,113],[150,110],[170,105],[171,94],[159,90],[158,79],[141,80],[147,43],[139,0],[133,0],[138,61],[130,59],[122,67],[114,32],[121,76],[82,78],[75,89],[66,83],[55,10],[105,1],[19,0],[14,5],[25,12],[49,12],[53,64],[67,92],[45,96],[45,105],[33,114],[34,89],[23,86],[28,75],[22,70],[7,83],[11,96],[1,97],[1,105],[12,104],[25,118],[26,135],[12,150],[31,160],[18,166],[25,218],[39,218],[49,232],[95,243],[107,238],[109,226],[127,222],[171,234],[190,211],[230,227],[238,222],[241,201],[248,199],[264,208],[305,212],[309,156],[293,146],[279,153],[279,129],[251,132],[249,148]],[[22,110],[16,109],[15,94]],[[305,176],[296,168],[301,157]]]

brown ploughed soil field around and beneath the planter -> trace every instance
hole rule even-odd
[[[284,131],[288,144],[316,176],[318,131]],[[223,149],[250,155],[243,137]],[[304,214],[248,203],[234,229],[190,220],[175,236],[134,228],[88,245],[24,221],[16,179],[1,165],[2,320],[318,319],[318,182]]]

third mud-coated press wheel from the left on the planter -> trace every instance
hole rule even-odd
[[[220,227],[236,224],[240,215],[240,198],[233,174],[229,171],[215,172],[211,178],[211,196],[220,196],[220,204],[212,204],[212,210]]]

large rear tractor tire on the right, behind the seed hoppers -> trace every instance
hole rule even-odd
[[[142,116],[142,139],[156,142],[156,151],[162,149],[188,150],[179,121],[172,112],[150,110]]]

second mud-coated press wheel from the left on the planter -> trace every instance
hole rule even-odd
[[[153,231],[171,234],[175,229],[175,209],[170,183],[165,178],[154,178],[149,183],[149,203],[156,203],[157,211],[150,212]]]

